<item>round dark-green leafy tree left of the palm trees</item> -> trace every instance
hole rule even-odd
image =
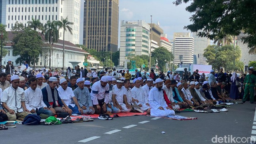
[[[25,28],[23,32],[15,35],[13,42],[13,54],[14,56],[20,56],[19,59],[16,59],[16,63],[21,63],[26,60],[29,64],[32,63],[35,67],[35,63],[38,62],[38,57],[41,53],[43,44],[38,32]]]

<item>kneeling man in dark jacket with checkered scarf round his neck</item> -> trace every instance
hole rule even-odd
[[[64,113],[67,112],[67,108],[65,108],[65,105],[60,99],[58,90],[55,88],[56,85],[57,78],[50,77],[49,84],[42,89],[43,101],[54,115],[59,114],[60,112],[63,112],[63,115],[69,115],[68,113]]]

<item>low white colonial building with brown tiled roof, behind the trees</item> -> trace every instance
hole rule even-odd
[[[14,66],[19,66],[19,63],[16,63],[15,60],[19,58],[19,56],[13,55],[13,48],[11,40],[13,39],[14,35],[12,32],[8,32],[8,41],[9,43],[6,44],[3,48],[8,50],[8,54],[3,57],[2,65],[6,65],[8,60],[11,60]],[[42,38],[43,39],[43,38]],[[45,42],[44,42],[45,43]],[[47,43],[44,46],[48,46]],[[65,41],[65,68],[73,67],[70,62],[79,62],[78,65],[80,67],[83,65],[85,54],[89,54],[88,52],[82,50],[82,48],[77,47],[75,44]],[[46,59],[46,63],[44,61],[44,55],[39,55],[39,61],[36,63],[36,67],[49,67],[49,57]],[[52,68],[61,68],[63,65],[63,40],[58,40],[57,43],[53,44],[53,53],[51,57],[51,67]],[[32,66],[31,66],[32,67]],[[64,68],[64,69],[65,69]]]

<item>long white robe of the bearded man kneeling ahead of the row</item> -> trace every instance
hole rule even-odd
[[[150,90],[148,96],[148,102],[150,104],[150,115],[156,117],[166,117],[168,115],[175,115],[174,110],[166,109],[167,104],[163,98],[163,91],[158,90],[157,87],[154,87]],[[163,110],[159,109],[162,106]]]

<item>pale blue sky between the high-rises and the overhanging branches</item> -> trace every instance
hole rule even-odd
[[[82,0],[83,1],[83,0]],[[192,15],[185,8],[189,4],[182,3],[175,6],[174,0],[119,0],[119,24],[118,35],[120,35],[120,22],[122,20],[145,20],[146,23],[159,21],[163,32],[168,39],[173,39],[174,32],[188,32],[183,27],[191,24],[189,17]],[[80,16],[80,44],[83,43],[83,3],[81,2]],[[118,37],[118,46],[120,39]]]

